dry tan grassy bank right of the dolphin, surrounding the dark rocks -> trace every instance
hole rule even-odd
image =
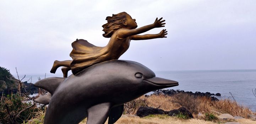
[[[168,115],[149,115],[143,118],[130,116],[130,114],[135,115],[140,106],[159,108],[164,111],[185,107],[193,114],[194,118],[183,119],[180,116],[170,117]],[[241,116],[244,119],[221,120],[217,116],[223,113]],[[227,122],[256,124],[255,119],[248,119],[250,114],[255,115],[255,113],[245,106],[238,105],[234,100],[211,101],[209,97],[195,97],[186,93],[173,96],[142,96],[126,103],[124,114],[128,116],[123,115],[115,124],[224,124]],[[86,124],[86,119],[80,124]]]

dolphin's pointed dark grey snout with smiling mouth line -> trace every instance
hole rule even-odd
[[[153,84],[156,85],[161,85],[161,86],[178,86],[179,83],[177,81],[174,80],[168,80],[168,79],[164,79],[164,78],[159,78],[159,77],[153,77],[153,78],[149,78],[149,79],[145,79],[146,81],[149,81]]]

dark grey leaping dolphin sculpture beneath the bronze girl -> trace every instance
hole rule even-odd
[[[158,78],[146,66],[134,61],[111,60],[95,64],[67,78],[51,77],[34,84],[49,94],[35,101],[48,105],[44,124],[114,124],[124,103],[147,92],[178,86]]]

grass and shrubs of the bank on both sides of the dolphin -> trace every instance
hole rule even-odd
[[[17,95],[13,97],[1,98],[1,119],[7,120],[8,118],[17,116],[17,113],[22,108],[29,106],[28,103],[22,102],[23,99]],[[14,97],[14,96],[17,96]],[[17,106],[17,102],[19,101]],[[8,105],[6,107],[6,105]],[[139,107],[153,107],[163,109],[164,111],[170,111],[184,107],[189,110],[193,119],[189,119],[186,115],[178,114],[176,116],[168,115],[148,115],[140,118],[136,115]],[[12,110],[13,108],[13,110]],[[17,110],[14,110],[17,109]],[[30,113],[29,113],[30,112]],[[230,114],[233,116],[240,116],[244,119],[239,120],[221,120],[218,119],[220,114]],[[24,122],[26,124],[43,124],[43,118],[45,114],[44,108],[32,108],[23,111],[18,118],[17,122]],[[172,96],[166,95],[152,95],[149,97],[142,96],[136,100],[125,103],[124,115],[116,122],[116,124],[224,124],[226,122],[239,122],[240,124],[256,124],[256,120],[249,119],[249,115],[255,115],[249,108],[238,105],[233,100],[219,100],[212,101],[209,97],[194,96],[186,93],[179,93]],[[24,117],[24,118],[23,118]],[[0,119],[0,123],[3,121]],[[86,124],[86,119],[80,124]],[[107,124],[107,122],[105,123]]]

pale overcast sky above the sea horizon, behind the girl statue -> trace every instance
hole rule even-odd
[[[0,66],[49,73],[71,60],[71,43],[105,46],[105,18],[127,12],[138,27],[166,20],[167,38],[131,41],[120,60],[153,71],[256,69],[255,0],[0,0]],[[60,68],[57,73],[61,73]]]

